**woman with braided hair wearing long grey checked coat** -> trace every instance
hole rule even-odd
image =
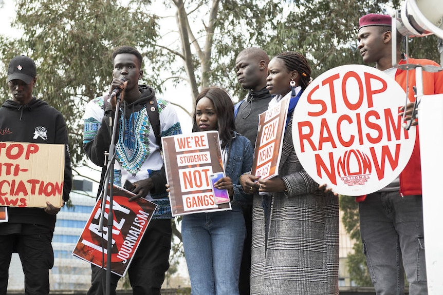
[[[306,58],[281,52],[268,65],[273,103],[289,99],[279,175],[241,176],[254,192],[251,294],[338,294],[338,196],[319,189],[300,164],[292,143],[293,109],[311,81]]]

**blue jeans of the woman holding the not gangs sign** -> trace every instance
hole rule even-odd
[[[242,209],[184,215],[181,234],[192,295],[238,295],[246,237]]]

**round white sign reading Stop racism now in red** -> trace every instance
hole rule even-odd
[[[372,67],[347,65],[321,74],[293,114],[293,143],[303,168],[344,195],[390,184],[415,143],[415,128],[402,128],[398,115],[405,100],[400,85]]]

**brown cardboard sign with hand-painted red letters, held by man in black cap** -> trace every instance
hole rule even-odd
[[[0,142],[0,206],[62,206],[65,146]]]

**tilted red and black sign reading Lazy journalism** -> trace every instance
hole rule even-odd
[[[143,198],[129,202],[134,193],[118,186],[114,186],[113,195],[111,272],[123,277],[157,205]],[[94,206],[72,255],[106,269],[109,196],[106,198],[103,232],[99,228],[101,203],[102,200],[98,200]]]

